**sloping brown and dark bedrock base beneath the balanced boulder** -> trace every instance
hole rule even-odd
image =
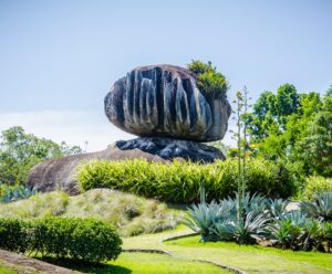
[[[70,194],[77,194],[80,191],[76,168],[80,164],[93,159],[127,160],[137,158],[163,162],[173,159],[204,162],[225,159],[218,149],[195,141],[157,137],[136,138],[117,141],[102,151],[71,155],[40,162],[30,171],[27,183],[41,192],[61,189]]]

